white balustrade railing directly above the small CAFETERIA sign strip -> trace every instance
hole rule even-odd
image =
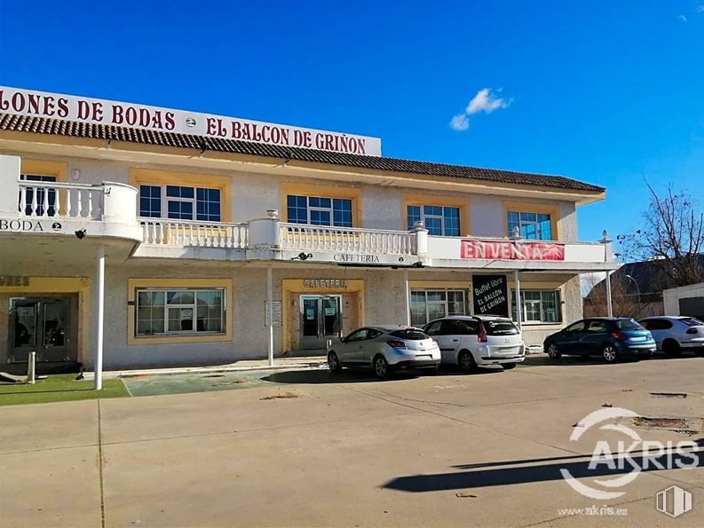
[[[328,227],[324,225],[280,225],[281,249],[415,255],[415,232]]]

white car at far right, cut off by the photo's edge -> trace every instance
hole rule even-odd
[[[658,349],[668,355],[682,351],[704,356],[704,322],[686,316],[659,316],[640,319],[638,323],[650,330]]]

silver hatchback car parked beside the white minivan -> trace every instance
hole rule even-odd
[[[414,327],[362,327],[341,337],[328,351],[330,372],[344,366],[371,368],[385,378],[393,369],[423,368],[435,372],[440,349],[430,337]]]

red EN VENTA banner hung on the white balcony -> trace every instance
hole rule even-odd
[[[565,246],[554,242],[462,240],[460,258],[478,260],[565,260]]]

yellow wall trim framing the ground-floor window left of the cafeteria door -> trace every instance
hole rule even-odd
[[[135,335],[135,293],[142,288],[224,288],[225,334],[202,335]],[[212,343],[233,340],[233,281],[230,279],[128,279],[127,280],[127,344]]]

